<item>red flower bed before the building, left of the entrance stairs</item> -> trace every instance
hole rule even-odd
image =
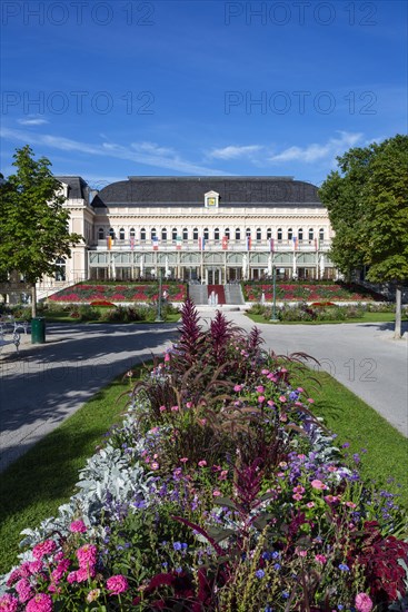
[[[187,287],[181,283],[165,283],[162,292],[166,292],[169,302],[183,302],[187,297]],[[136,284],[128,285],[91,285],[80,283],[71,287],[67,287],[61,292],[49,297],[51,302],[74,302],[90,304],[92,302],[151,302],[157,299],[158,284]]]

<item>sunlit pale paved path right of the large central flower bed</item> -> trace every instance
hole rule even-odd
[[[199,312],[202,318],[213,315],[209,308]],[[255,325],[242,312],[226,310],[226,315],[246,329]],[[392,325],[387,323],[257,326],[268,348],[317,358],[320,366],[316,368],[331,374],[408,437],[407,323],[401,340],[392,339]]]

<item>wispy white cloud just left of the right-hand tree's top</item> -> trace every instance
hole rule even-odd
[[[273,164],[281,161],[300,161],[314,164],[315,161],[331,161],[338,155],[342,155],[350,147],[356,146],[362,138],[360,132],[339,131],[339,138],[330,138],[321,145],[314,142],[307,147],[289,147],[283,151],[268,158]]]

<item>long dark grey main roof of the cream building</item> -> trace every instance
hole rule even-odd
[[[92,206],[201,207],[211,190],[220,207],[322,207],[315,185],[291,177],[129,177],[101,189]]]

